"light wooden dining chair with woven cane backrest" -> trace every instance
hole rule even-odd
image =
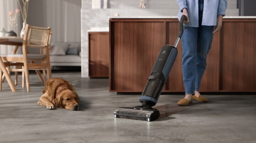
[[[46,72],[48,79],[51,78],[49,45],[50,27],[34,27],[26,25],[25,35],[23,37],[22,54],[9,54],[1,56],[5,61],[5,66],[15,65],[16,68],[8,69],[9,71],[21,71],[22,79],[25,76],[27,92],[30,92],[30,81],[28,70],[43,70],[44,81],[46,81]],[[27,48],[40,48],[40,54],[30,54]],[[17,68],[22,67],[22,68]],[[23,80],[24,81],[24,80]],[[0,81],[2,82],[2,81]],[[23,84],[24,82],[22,82]]]

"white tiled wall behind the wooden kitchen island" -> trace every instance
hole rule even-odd
[[[144,0],[146,9],[139,8],[139,0],[108,0],[107,9],[91,9],[92,0],[82,0],[81,42],[82,77],[88,77],[88,32],[91,27],[108,27],[108,17],[119,16],[177,16],[176,0]],[[226,16],[239,16],[237,0],[228,0]]]

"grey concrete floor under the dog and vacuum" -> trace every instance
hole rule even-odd
[[[80,110],[48,110],[37,105],[44,88],[36,74],[31,92],[5,81],[0,91],[0,142],[189,142],[250,143],[256,141],[256,95],[205,95],[208,103],[176,105],[183,95],[161,95],[152,122],[114,118],[118,107],[140,105],[140,95],[108,92],[108,79],[81,78],[80,72],[53,73],[69,80],[78,92]],[[21,76],[19,76],[21,78]]]

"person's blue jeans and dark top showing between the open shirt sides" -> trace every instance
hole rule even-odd
[[[201,7],[201,0],[199,1],[199,7]],[[187,27],[181,38],[182,75],[185,95],[193,95],[195,94],[194,91],[199,91],[206,69],[207,53],[212,45],[214,26],[202,25],[202,9],[199,9],[199,27]]]

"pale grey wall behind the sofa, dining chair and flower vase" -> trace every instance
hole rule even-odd
[[[81,5],[81,0],[30,0],[27,23],[38,27],[51,27],[52,41],[80,42]],[[6,19],[9,18],[8,12],[14,11],[15,8],[18,8],[17,0],[0,0],[0,28],[10,29]],[[21,19],[20,16],[18,26],[15,27],[18,36],[23,22]],[[0,45],[0,53],[11,53],[12,48],[5,47]]]

